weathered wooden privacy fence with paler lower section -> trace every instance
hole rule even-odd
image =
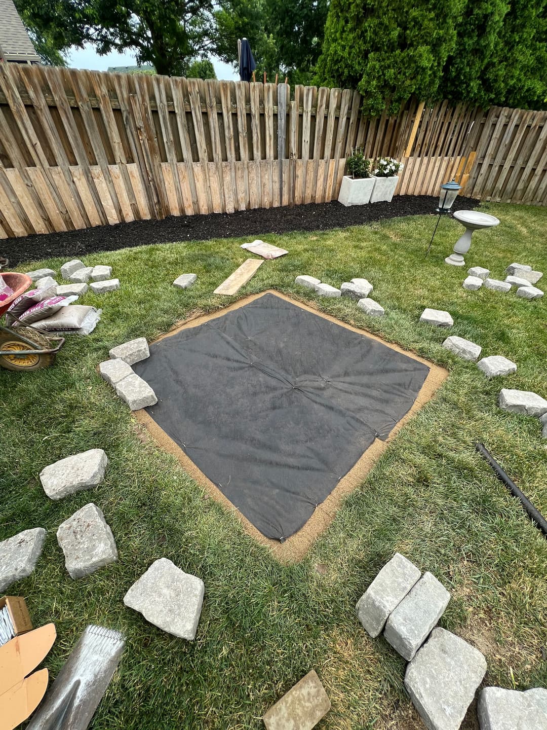
[[[0,64],[0,237],[330,201],[355,146],[403,159],[397,193],[455,175],[547,204],[547,112],[361,106],[347,89]]]

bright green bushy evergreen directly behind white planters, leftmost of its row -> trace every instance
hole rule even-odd
[[[438,98],[466,0],[332,0],[319,58],[320,81],[357,88],[365,111],[395,112],[413,94]]]

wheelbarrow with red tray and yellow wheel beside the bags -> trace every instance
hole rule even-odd
[[[12,272],[2,272],[1,276],[13,293],[0,301],[0,367],[29,372],[53,364],[55,355],[64,345],[64,337],[48,337],[36,327],[21,322],[15,315],[10,316],[20,326],[12,327],[1,322],[9,306],[31,286],[31,277]]]

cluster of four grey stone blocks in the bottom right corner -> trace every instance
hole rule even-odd
[[[457,730],[486,674],[486,659],[478,649],[435,628],[449,600],[449,591],[431,573],[422,575],[395,553],[356,607],[368,634],[377,637],[384,631],[387,642],[409,662],[405,686],[430,730]],[[528,713],[524,721],[522,712]],[[478,715],[481,730],[547,730],[547,690],[486,687]]]

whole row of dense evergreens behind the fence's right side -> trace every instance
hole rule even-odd
[[[546,66],[547,0],[332,0],[316,80],[371,114],[412,95],[544,109]]]

